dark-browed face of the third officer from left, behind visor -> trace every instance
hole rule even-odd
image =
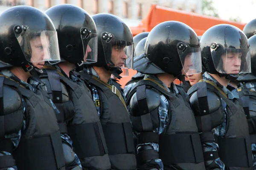
[[[115,45],[112,47],[111,61],[115,67],[122,67],[125,64],[127,56],[124,51],[125,46]]]

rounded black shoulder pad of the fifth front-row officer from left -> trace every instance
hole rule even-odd
[[[207,90],[207,101],[208,101],[208,107],[209,107],[210,113],[213,113],[217,111],[220,107],[222,107],[221,98],[217,94],[215,94],[213,91]],[[197,91],[195,91],[193,94],[190,95],[190,104],[195,115],[201,115],[199,110]]]

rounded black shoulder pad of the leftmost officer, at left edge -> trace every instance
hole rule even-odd
[[[20,94],[8,85],[3,85],[3,107],[4,115],[12,113],[20,108],[21,97]],[[1,115],[1,113],[0,113]]]

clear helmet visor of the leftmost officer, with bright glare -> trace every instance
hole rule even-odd
[[[22,26],[21,31],[15,29],[14,32],[28,62],[56,64],[61,61],[56,31],[30,30]]]

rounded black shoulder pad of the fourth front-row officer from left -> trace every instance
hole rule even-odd
[[[148,111],[151,112],[160,105],[161,97],[158,91],[153,88],[146,88],[145,93],[146,93]],[[140,106],[137,101],[137,92],[135,92],[134,95],[131,97],[131,101],[130,101],[130,113],[133,116],[141,116],[143,114],[146,114],[146,113],[139,113],[140,111],[139,107]]]

